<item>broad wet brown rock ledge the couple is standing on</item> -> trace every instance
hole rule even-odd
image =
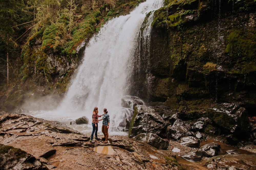
[[[101,137],[101,136],[100,136]],[[62,125],[24,114],[0,116],[0,169],[184,169],[162,151],[125,136],[110,136],[114,154],[100,154],[89,137]],[[17,149],[15,149],[17,148]],[[11,153],[14,152],[14,153]],[[18,154],[22,152],[24,154]],[[8,161],[12,154],[16,161]],[[15,156],[16,155],[16,156]]]

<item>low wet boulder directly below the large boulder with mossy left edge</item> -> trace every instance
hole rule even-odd
[[[167,140],[162,139],[156,134],[153,133],[143,133],[139,134],[135,137],[133,137],[136,140],[146,142],[147,144],[157,148],[157,149],[162,149],[162,150],[167,150],[169,142]]]

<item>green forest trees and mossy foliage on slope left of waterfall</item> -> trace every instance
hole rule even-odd
[[[0,0],[1,82],[7,82],[7,68],[12,70],[12,81],[26,80],[29,74],[33,74],[28,66],[34,67],[34,62],[39,70],[42,69],[46,62],[45,55],[49,53],[58,53],[67,60],[76,58],[76,47],[99,31],[101,24],[110,17],[120,15],[124,8],[138,3],[130,2],[132,1]],[[120,7],[124,4],[125,7]],[[37,61],[33,58],[32,53],[35,51],[32,50],[39,39],[40,49],[37,53],[41,57]]]

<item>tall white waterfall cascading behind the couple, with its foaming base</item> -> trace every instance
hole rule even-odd
[[[110,131],[118,131],[111,127],[117,127],[126,118],[125,112],[122,111],[124,109],[121,108],[121,99],[124,95],[129,95],[125,90],[130,86],[126,79],[132,72],[133,67],[130,67],[130,63],[133,60],[132,55],[138,36],[141,36],[140,28],[146,14],[162,6],[163,0],[147,0],[129,15],[108,21],[89,41],[84,51],[83,62],[60,107],[54,112],[41,111],[39,114],[31,114],[35,117],[62,122],[86,116],[91,122],[94,107],[99,108],[99,114],[103,114],[103,109],[107,108],[111,119]],[[151,15],[153,16],[153,12]],[[153,17],[149,18],[151,20],[148,23],[151,23]],[[151,27],[151,24],[147,25]],[[151,29],[144,29],[143,35],[148,36],[150,31]],[[91,123],[73,128],[89,133]]]

